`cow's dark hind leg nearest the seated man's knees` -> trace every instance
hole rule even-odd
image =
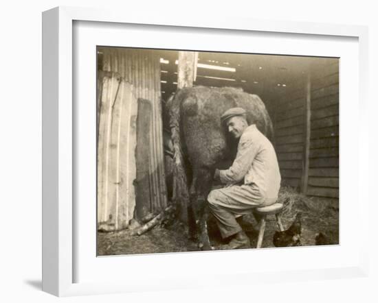
[[[212,249],[206,223],[208,218],[207,199],[212,186],[212,175],[213,173],[210,169],[194,170],[192,187],[190,189],[190,204],[192,205],[201,250]]]

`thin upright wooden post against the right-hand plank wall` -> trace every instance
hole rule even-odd
[[[302,160],[302,189],[301,192],[307,194],[307,185],[309,183],[309,156],[310,156],[310,137],[311,137],[311,70],[307,72],[306,83],[306,103],[304,116],[304,145]]]

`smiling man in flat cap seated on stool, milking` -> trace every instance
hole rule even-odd
[[[236,216],[276,202],[280,170],[273,145],[255,124],[248,125],[243,108],[227,110],[221,116],[221,123],[239,139],[238,151],[229,169],[216,169],[214,178],[226,186],[210,191],[208,204],[223,239],[232,237],[222,248],[246,248],[250,247],[249,238],[237,223]]]

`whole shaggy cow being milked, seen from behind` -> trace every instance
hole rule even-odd
[[[173,145],[173,202],[180,218],[188,221],[189,234],[201,250],[211,250],[207,228],[207,197],[220,163],[234,159],[237,142],[221,125],[221,114],[234,107],[247,111],[269,140],[273,126],[258,95],[239,88],[194,86],[177,90],[166,103]]]

